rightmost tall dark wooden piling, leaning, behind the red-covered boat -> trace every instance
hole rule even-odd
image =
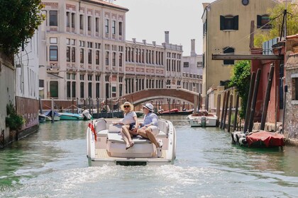
[[[268,81],[267,81],[264,105],[263,105],[263,112],[262,112],[261,125],[260,125],[261,130],[265,129],[265,122],[266,122],[266,117],[267,117],[268,103],[270,100],[270,92],[271,92],[271,86],[272,86],[273,73],[274,73],[274,66],[271,66],[269,76],[268,76]]]

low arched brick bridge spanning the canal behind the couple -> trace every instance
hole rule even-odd
[[[159,89],[147,89],[143,91],[137,91],[123,95],[123,98],[133,103],[133,105],[139,105],[141,103],[148,102],[149,100],[170,98],[175,100],[182,100],[191,105],[197,103],[199,93],[194,91],[188,91],[183,88],[159,88]],[[202,99],[202,98],[201,98]],[[202,103],[202,100],[201,100]]]

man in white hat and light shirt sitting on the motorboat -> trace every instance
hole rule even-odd
[[[160,129],[158,129],[158,116],[153,113],[153,105],[151,103],[143,105],[143,112],[145,114],[144,122],[140,124],[141,127],[138,129],[138,134],[155,144],[158,158],[160,158],[162,156],[162,142],[157,141],[155,138],[160,132]]]

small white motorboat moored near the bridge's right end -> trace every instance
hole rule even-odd
[[[187,116],[191,127],[216,127],[217,116],[207,110],[199,110]]]

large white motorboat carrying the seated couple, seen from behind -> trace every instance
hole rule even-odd
[[[164,165],[176,158],[176,131],[172,122],[159,120],[158,141],[162,141],[162,156],[157,157],[154,144],[141,136],[133,137],[135,144],[126,150],[120,134],[121,125],[113,125],[104,118],[94,120],[87,127],[87,158],[89,165]]]

